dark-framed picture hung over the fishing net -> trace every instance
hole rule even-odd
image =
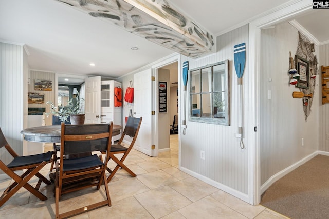
[[[299,74],[299,79],[296,87],[308,89],[309,84],[309,62],[298,55],[295,56],[296,69]]]

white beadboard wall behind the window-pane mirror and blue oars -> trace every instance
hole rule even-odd
[[[189,85],[187,92],[186,108],[186,135],[181,134],[181,163],[182,170],[201,175],[206,181],[212,181],[213,185],[223,190],[238,191],[235,193],[248,193],[248,130],[244,129],[243,141],[246,149],[240,148],[240,138],[235,138],[238,126],[238,93],[237,76],[234,68],[234,45],[246,43],[248,54],[249,26],[237,28],[229,33],[217,37],[217,52],[204,58],[190,59],[181,56],[181,66],[185,61],[189,61],[189,69],[201,67],[204,65],[224,61],[229,59],[229,118],[230,125],[213,125],[206,123],[190,122],[189,116]],[[243,75],[243,127],[248,124],[248,56],[246,57],[246,66]],[[180,75],[180,77],[182,77]],[[182,80],[180,81],[182,88]],[[184,92],[179,91],[180,106],[184,109]],[[180,111],[180,120],[182,120],[182,111]],[[180,131],[182,133],[182,131]],[[200,159],[200,150],[205,151],[205,160]]]

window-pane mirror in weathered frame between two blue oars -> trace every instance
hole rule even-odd
[[[229,125],[228,60],[189,70],[189,121]]]

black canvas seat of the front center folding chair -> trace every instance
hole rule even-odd
[[[94,168],[104,163],[94,154],[92,156],[79,157],[63,160],[63,171],[75,171],[80,169]]]

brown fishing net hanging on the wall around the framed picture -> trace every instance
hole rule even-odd
[[[309,62],[308,66],[308,89],[304,88],[299,88],[300,92],[304,94],[313,94],[312,97],[303,97],[302,104],[303,104],[303,109],[305,113],[305,121],[307,122],[307,117],[309,116],[311,112],[311,107],[313,103],[313,97],[314,97],[314,91],[315,91],[315,86],[316,86],[316,76],[319,74],[319,69],[318,69],[318,59],[317,56],[314,55],[315,52],[315,47],[314,43],[310,42],[309,39],[302,34],[301,32],[298,31],[299,35],[299,41],[298,41],[298,46],[297,46],[297,51],[296,55],[306,59]],[[295,56],[296,59],[296,56]],[[296,60],[296,69],[298,70],[297,62]],[[307,84],[305,85],[307,86]]]

